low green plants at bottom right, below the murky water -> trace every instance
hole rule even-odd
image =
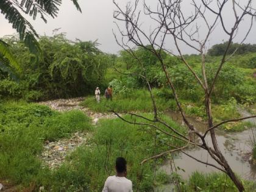
[[[243,184],[246,192],[256,191],[254,182],[244,181]],[[238,191],[235,184],[226,174],[222,173],[210,173],[204,174],[201,172],[193,172],[188,182],[182,185],[182,191],[193,192],[212,192],[212,191],[227,191],[233,192]]]

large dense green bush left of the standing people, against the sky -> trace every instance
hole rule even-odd
[[[21,92],[20,95],[15,93],[15,97],[37,100],[82,96],[92,93],[95,87],[106,85],[104,79],[110,56],[101,52],[96,42],[73,42],[63,34],[43,36],[39,40],[42,49],[39,59],[15,37],[8,38],[7,42],[12,45],[23,70],[20,82],[13,82]],[[28,93],[30,90],[34,92]],[[16,90],[5,92],[8,91],[13,96]]]

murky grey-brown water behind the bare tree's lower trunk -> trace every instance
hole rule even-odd
[[[241,110],[241,115],[248,116],[250,115],[244,110]],[[182,118],[178,113],[168,112],[167,115],[171,116],[174,121],[177,121],[180,124],[182,123]],[[194,118],[188,118],[188,120],[197,127],[198,130],[203,132],[206,128],[206,124],[200,121],[197,121]],[[256,123],[256,118],[247,119],[251,123]],[[225,133],[222,131],[216,130],[216,137],[218,140],[219,149],[222,151],[222,154],[226,157],[227,162],[237,174],[240,174],[241,177],[247,180],[256,180],[256,165],[251,165],[248,161],[248,155],[251,151],[251,137],[252,131],[245,130],[244,132],[236,132],[236,133]],[[210,135],[207,136],[207,141],[210,143]],[[208,155],[208,152],[201,148],[193,148],[188,149],[186,151],[193,157],[199,158],[200,160],[208,163],[212,163],[214,165],[218,165],[215,160]],[[201,172],[213,172],[218,171],[218,169],[212,168],[211,166],[203,165],[202,163],[196,162],[192,158],[188,157],[183,153],[179,153],[177,158],[174,159],[174,163],[179,166],[184,171],[177,171],[183,179],[188,179],[194,171]],[[167,173],[171,173],[171,165],[170,162],[166,162],[165,165],[162,166],[162,170]]]

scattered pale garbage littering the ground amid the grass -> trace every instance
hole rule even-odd
[[[59,112],[81,110],[92,119],[94,126],[98,124],[98,121],[101,118],[111,119],[117,117],[115,114],[110,113],[91,112],[89,108],[79,105],[81,101],[84,101],[84,98],[55,99],[39,102],[39,104],[48,105],[52,110],[57,110]],[[86,143],[89,137],[90,135],[88,133],[76,132],[71,138],[64,138],[54,142],[45,141],[43,152],[40,155],[40,158],[44,161],[44,166],[49,166],[51,169],[60,167],[64,162],[66,155]]]

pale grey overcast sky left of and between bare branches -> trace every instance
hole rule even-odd
[[[116,0],[119,4],[126,4],[126,0]],[[154,5],[154,1],[150,0]],[[185,0],[183,2],[190,2]],[[79,38],[83,41],[97,40],[101,43],[99,46],[102,51],[108,53],[116,53],[120,50],[116,44],[115,38],[112,34],[112,29],[115,29],[113,24],[113,10],[115,9],[112,0],[80,0],[80,7],[82,13],[78,12],[71,1],[63,0],[63,4],[60,7],[59,16],[55,19],[48,18],[48,23],[45,24],[38,17],[36,21],[29,20],[38,34],[40,35],[52,35],[52,30],[60,28],[59,32],[65,32],[67,38],[74,40]],[[184,4],[184,9],[190,12],[190,4]],[[223,16],[227,18],[226,23],[231,23],[232,10],[225,10]],[[230,21],[229,21],[230,19]],[[148,30],[153,21],[147,20],[145,30]],[[243,29],[247,29],[249,20],[245,20],[240,27],[240,32]],[[147,28],[149,27],[149,28]],[[4,19],[4,16],[0,13],[0,37],[4,35],[10,35],[15,33],[12,29],[12,25]],[[243,34],[244,35],[244,34]],[[238,34],[237,40],[241,40],[242,34]],[[226,40],[226,35],[222,32],[221,28],[217,28],[215,34],[210,38],[210,45],[221,43],[222,40]],[[252,32],[247,38],[245,43],[256,43],[256,25],[252,28]],[[169,48],[174,48],[170,43]],[[182,47],[183,52],[186,54],[193,53],[191,49]]]

